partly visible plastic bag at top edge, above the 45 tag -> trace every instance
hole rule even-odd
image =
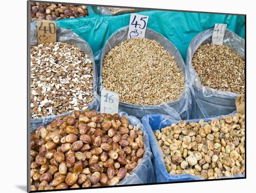
[[[137,8],[125,8],[125,7],[93,7],[95,12],[101,15],[119,15],[123,13],[133,13],[142,11]]]

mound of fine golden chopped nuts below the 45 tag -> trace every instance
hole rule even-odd
[[[122,102],[158,105],[177,100],[184,77],[175,57],[154,40],[133,38],[112,48],[102,66],[103,85]]]

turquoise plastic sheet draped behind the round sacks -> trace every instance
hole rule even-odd
[[[89,16],[75,19],[56,20],[57,25],[73,31],[87,41],[94,53],[104,47],[112,33],[129,24],[130,13],[116,15],[94,14],[94,7],[88,6]],[[138,14],[148,15],[147,27],[161,33],[170,40],[186,59],[189,42],[193,37],[215,23],[228,24],[227,29],[240,37],[245,36],[245,20],[242,15],[191,13],[178,11],[147,10]]]

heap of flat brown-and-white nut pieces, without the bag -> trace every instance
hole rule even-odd
[[[32,118],[86,109],[93,100],[93,66],[76,45],[31,46]]]

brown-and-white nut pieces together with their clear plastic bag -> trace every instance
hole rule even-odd
[[[97,80],[95,79],[97,69],[89,44],[74,32],[57,27],[57,42],[47,44],[46,51],[43,45],[38,46],[36,25],[31,24],[30,34],[31,46],[34,47],[31,49],[32,61],[30,63],[30,116],[33,115],[30,127],[36,128],[44,124],[42,118],[46,116],[68,113],[78,107],[92,109],[94,106],[98,106],[93,100],[97,90]],[[37,53],[37,49],[40,53]],[[52,52],[50,52],[51,50]],[[44,58],[44,56],[49,57]],[[44,67],[46,68],[44,69]],[[71,76],[71,74],[73,75]]]

